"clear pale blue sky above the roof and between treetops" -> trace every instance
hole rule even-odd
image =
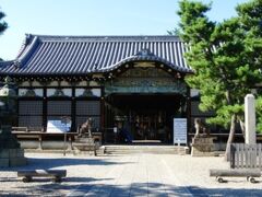
[[[210,0],[202,0],[210,2]],[[248,0],[213,0],[214,21],[236,14]],[[14,59],[26,33],[47,35],[166,35],[179,18],[178,0],[0,0],[9,28],[0,57]]]

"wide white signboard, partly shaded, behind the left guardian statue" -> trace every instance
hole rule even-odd
[[[71,121],[62,121],[59,119],[47,121],[47,132],[68,132],[71,128]]]

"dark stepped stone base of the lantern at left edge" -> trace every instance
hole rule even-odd
[[[11,134],[10,126],[0,129],[0,167],[26,165],[24,150]]]

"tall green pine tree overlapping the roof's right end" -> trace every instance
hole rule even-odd
[[[259,8],[252,8],[254,2]],[[200,90],[200,108],[216,113],[207,121],[229,128],[228,155],[236,124],[243,126],[243,97],[261,81],[261,36],[253,38],[260,27],[257,20],[252,24],[249,20],[262,19],[262,1],[238,5],[238,16],[222,23],[206,16],[211,3],[182,0],[179,5],[180,36],[189,45],[186,59],[195,72],[186,80]]]

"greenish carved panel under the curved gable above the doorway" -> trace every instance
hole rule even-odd
[[[105,83],[105,93],[179,93],[186,95],[187,86],[159,69],[130,69],[114,81]]]

